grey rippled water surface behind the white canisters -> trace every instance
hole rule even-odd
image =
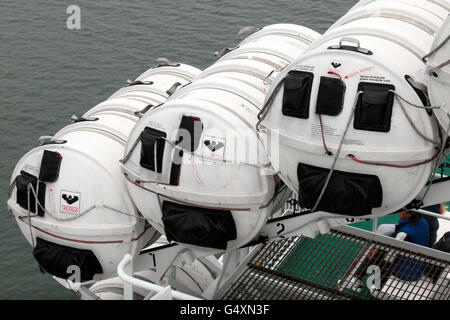
[[[71,299],[41,274],[6,207],[14,166],[154,65],[158,57],[204,69],[239,43],[244,26],[294,23],[323,33],[356,0],[0,0],[0,299]],[[81,30],[66,9],[81,8]]]

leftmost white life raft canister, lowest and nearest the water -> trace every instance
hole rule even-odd
[[[18,162],[8,207],[43,270],[63,279],[77,273],[82,282],[105,278],[124,254],[160,237],[131,201],[119,161],[148,106],[162,104],[169,89],[199,72],[152,68]]]

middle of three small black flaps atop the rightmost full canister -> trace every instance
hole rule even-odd
[[[345,83],[336,78],[321,77],[316,113],[337,116],[344,105]]]

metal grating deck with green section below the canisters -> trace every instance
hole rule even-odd
[[[265,244],[223,299],[449,300],[445,260],[333,230]]]

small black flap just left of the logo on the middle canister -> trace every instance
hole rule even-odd
[[[194,152],[199,144],[203,132],[203,123],[200,118],[183,116],[178,129],[177,145]]]

